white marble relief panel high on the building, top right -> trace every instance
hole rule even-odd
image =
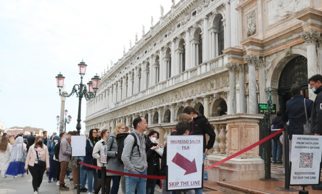
[[[311,6],[311,1],[273,0],[268,4],[269,26],[285,20]]]

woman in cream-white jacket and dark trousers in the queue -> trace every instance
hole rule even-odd
[[[100,137],[102,138],[98,143],[95,144],[93,150],[93,158],[97,159],[97,166],[102,167],[103,164],[101,163],[101,148],[107,145],[107,138],[109,137],[110,132],[108,130],[102,130]],[[105,193],[110,193],[111,190],[111,176],[107,176],[106,172],[103,172],[106,176],[105,178]],[[101,187],[102,187],[102,170],[97,170],[98,175],[98,183],[95,188],[95,194],[98,194]]]

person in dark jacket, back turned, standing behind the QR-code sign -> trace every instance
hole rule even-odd
[[[307,119],[311,117],[313,101],[305,99],[304,107],[304,96],[302,93],[301,86],[293,84],[291,87],[291,93],[293,97],[286,102],[286,112],[284,116],[284,122],[289,120],[288,126],[288,139],[289,139],[289,158],[291,158],[292,148],[292,136],[303,135],[304,127],[306,123],[305,107]]]

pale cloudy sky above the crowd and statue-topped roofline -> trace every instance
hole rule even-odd
[[[179,1],[177,1],[179,2]],[[147,32],[165,14],[171,0],[0,1],[0,121],[6,127],[32,126],[56,131],[60,97],[55,76],[65,76],[70,92],[81,81],[77,64],[88,64],[85,82],[101,75],[110,60],[123,55],[123,45],[135,42],[135,33]],[[86,116],[82,101],[82,120]],[[78,99],[66,99],[65,108],[75,130]],[[82,133],[85,123],[82,121]]]

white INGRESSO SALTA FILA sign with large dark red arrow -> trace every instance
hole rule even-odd
[[[202,136],[168,136],[167,190],[202,188],[202,164]]]

